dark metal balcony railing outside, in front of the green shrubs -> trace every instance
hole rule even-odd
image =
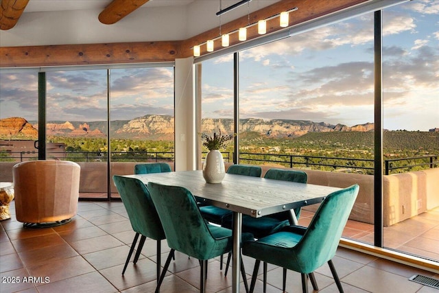
[[[29,161],[38,158],[38,152],[3,152],[6,156],[0,156],[0,161]],[[204,159],[206,152],[202,153]],[[224,161],[230,162],[233,153],[223,152]],[[50,159],[62,159],[75,162],[97,162],[107,161],[107,154],[104,152],[50,152],[47,155]],[[158,162],[174,161],[174,152],[111,152],[113,162]],[[241,152],[239,153],[241,163],[260,165],[263,163],[276,163],[283,167],[329,167],[331,171],[358,172],[373,174],[373,159],[353,159],[329,156],[309,156],[295,154],[261,154]],[[385,159],[385,175],[393,173],[410,172],[415,167],[420,169],[439,167],[438,155],[416,156],[401,159]]]

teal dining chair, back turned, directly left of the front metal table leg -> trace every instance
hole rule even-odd
[[[158,287],[165,277],[171,257],[177,250],[200,261],[200,292],[205,292],[207,261],[232,250],[232,231],[206,222],[202,218],[194,196],[185,187],[150,182],[147,184],[147,188],[150,190],[172,254],[169,254],[166,260]],[[253,235],[243,233],[241,239],[242,242],[250,241],[253,239]],[[246,292],[248,292],[246,272],[242,260],[241,274]]]

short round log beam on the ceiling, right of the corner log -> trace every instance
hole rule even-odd
[[[123,19],[141,5],[147,3],[149,0],[113,0],[107,7],[99,14],[99,21],[105,25],[112,25]]]

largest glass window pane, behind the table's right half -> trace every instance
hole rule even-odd
[[[240,162],[360,183],[344,237],[373,243],[373,14],[240,52]],[[305,207],[299,223],[317,207]]]

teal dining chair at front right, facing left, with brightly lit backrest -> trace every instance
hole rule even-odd
[[[254,290],[259,263],[265,261],[302,274],[302,292],[308,292],[308,274],[329,264],[335,283],[343,292],[332,259],[359,191],[358,185],[329,194],[313,216],[308,228],[286,226],[257,241],[244,242],[243,254],[256,260],[250,292]],[[318,288],[314,288],[318,290]]]

